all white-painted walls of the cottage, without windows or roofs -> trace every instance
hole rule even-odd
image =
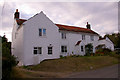
[[[20,65],[35,65],[45,59],[59,58],[60,55],[85,55],[85,49],[81,52],[81,46],[85,47],[88,43],[93,44],[93,52],[95,52],[97,45],[103,43],[114,50],[114,45],[109,39],[99,41],[97,34],[59,30],[43,12],[28,19],[19,29],[18,27],[15,20],[12,31],[12,53],[18,57]],[[46,29],[46,36],[39,36],[39,28]],[[61,38],[61,33],[66,33],[66,39]],[[85,35],[85,40],[82,40],[82,35]],[[94,36],[94,41],[91,41],[91,35]],[[81,43],[75,46],[80,40]],[[51,55],[48,54],[48,46],[50,45],[53,47]],[[61,52],[62,45],[67,46],[67,53]],[[34,47],[42,47],[42,54],[33,54]]]

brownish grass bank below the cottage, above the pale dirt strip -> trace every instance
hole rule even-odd
[[[44,60],[35,66],[24,66],[23,68],[44,72],[79,72],[101,68],[117,64],[118,59],[110,56],[83,56],[65,57],[62,59]]]

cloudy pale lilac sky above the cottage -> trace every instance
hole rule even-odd
[[[29,19],[41,11],[57,24],[91,29],[101,36],[118,32],[118,2],[112,1],[4,1],[0,0],[0,35],[12,41],[14,13],[18,9],[21,19]]]

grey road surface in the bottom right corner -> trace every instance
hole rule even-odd
[[[118,64],[109,66],[109,67],[104,67],[97,70],[89,70],[85,72],[72,73],[66,77],[68,78],[118,78]]]

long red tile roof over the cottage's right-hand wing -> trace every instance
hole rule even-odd
[[[84,32],[84,33],[91,33],[91,34],[99,35],[98,33],[92,31],[91,29],[87,29],[87,28],[68,26],[68,25],[61,25],[61,24],[55,24],[55,25],[58,26],[59,30],[74,31],[74,32]]]

